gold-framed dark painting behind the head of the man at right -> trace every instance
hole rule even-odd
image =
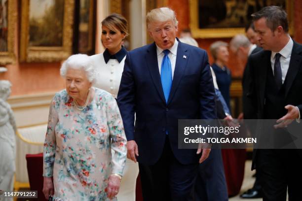
[[[286,9],[293,33],[294,0],[189,0],[190,29],[195,38],[232,37],[244,33],[251,14],[269,5]]]

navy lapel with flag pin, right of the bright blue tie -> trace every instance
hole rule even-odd
[[[189,52],[186,48],[184,48],[184,46],[182,45],[182,42],[180,42],[178,40],[176,63],[175,63],[172,87],[171,87],[171,91],[170,91],[170,95],[169,95],[169,99],[168,99],[168,104],[171,102],[171,100],[177,90],[177,86],[185,72],[185,68],[187,66],[188,60],[189,60]]]

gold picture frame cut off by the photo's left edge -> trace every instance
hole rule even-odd
[[[15,42],[15,27],[17,20],[17,7],[15,0],[8,1],[8,12],[7,12],[7,52],[0,52],[0,64],[11,64],[16,61],[14,53],[14,42]]]

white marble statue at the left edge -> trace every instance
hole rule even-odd
[[[0,190],[3,191],[13,190],[16,169],[16,123],[10,105],[6,102],[10,87],[9,81],[0,80]]]

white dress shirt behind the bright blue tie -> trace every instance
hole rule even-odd
[[[177,41],[177,39],[175,39],[174,45],[169,49],[170,53],[168,54],[168,57],[171,62],[171,68],[172,68],[172,79],[174,76],[174,70],[175,70],[175,64],[176,64],[177,47],[178,47],[178,41]],[[160,70],[161,70],[161,63],[162,63],[163,57],[165,56],[165,54],[162,51],[164,51],[164,50],[156,45],[159,74],[160,74]]]

